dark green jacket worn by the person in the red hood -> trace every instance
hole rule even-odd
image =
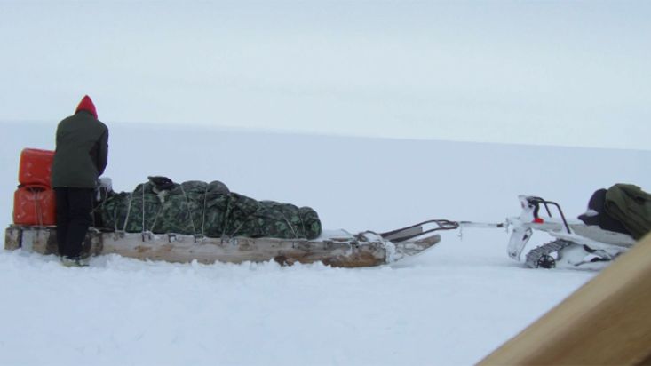
[[[59,123],[53,188],[94,188],[107,162],[108,128],[95,115],[82,109]]]

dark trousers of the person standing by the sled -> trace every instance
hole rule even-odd
[[[57,203],[59,254],[77,259],[92,224],[92,188],[54,188]]]

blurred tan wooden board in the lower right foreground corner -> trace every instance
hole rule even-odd
[[[480,365],[651,362],[651,235]]]

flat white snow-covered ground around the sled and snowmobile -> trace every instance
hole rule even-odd
[[[154,174],[219,179],[244,195],[312,206],[324,227],[350,231],[498,222],[519,213],[519,194],[576,217],[599,187],[651,188],[651,151],[107,123],[115,190]],[[4,124],[3,227],[20,149],[53,148],[55,126]],[[523,268],[506,256],[504,230],[457,234],[365,269],[116,256],[66,268],[0,251],[0,364],[471,364],[595,275]]]

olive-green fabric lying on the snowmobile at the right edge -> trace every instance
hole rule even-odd
[[[651,231],[651,195],[638,186],[620,183],[608,188],[604,209],[636,240]]]

